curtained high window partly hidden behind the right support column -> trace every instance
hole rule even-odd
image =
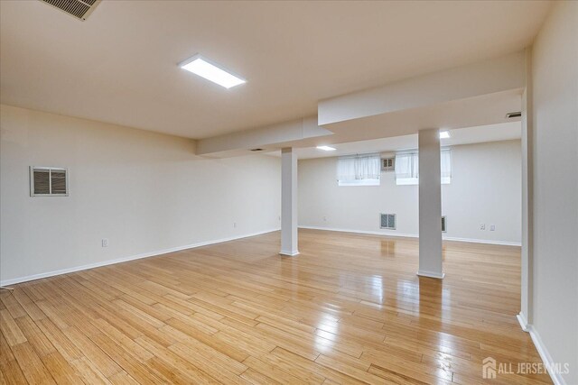
[[[440,152],[442,184],[452,183],[452,151]],[[396,185],[419,184],[419,153],[417,151],[396,154]]]

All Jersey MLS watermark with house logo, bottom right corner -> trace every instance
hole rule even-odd
[[[555,362],[554,364],[542,362],[496,362],[493,357],[486,357],[481,362],[481,377],[487,380],[495,379],[499,374],[568,374],[569,372],[570,364],[568,362]]]

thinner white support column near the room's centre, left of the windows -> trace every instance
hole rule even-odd
[[[297,248],[297,155],[281,150],[281,252],[294,256]]]

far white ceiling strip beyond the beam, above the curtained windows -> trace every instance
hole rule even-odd
[[[455,146],[480,142],[498,142],[520,139],[522,124],[508,122],[501,124],[479,125],[449,130],[450,139],[442,139],[442,146]],[[417,134],[374,139],[370,141],[347,142],[331,144],[335,151],[322,151],[315,147],[295,148],[299,159],[327,158],[332,156],[350,155],[369,152],[389,152],[417,148]],[[267,155],[281,156],[280,151],[268,152]]]

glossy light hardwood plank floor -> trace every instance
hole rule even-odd
[[[0,382],[489,383],[481,362],[541,362],[517,324],[520,250],[301,230],[14,285]],[[491,383],[551,383],[498,374]]]

